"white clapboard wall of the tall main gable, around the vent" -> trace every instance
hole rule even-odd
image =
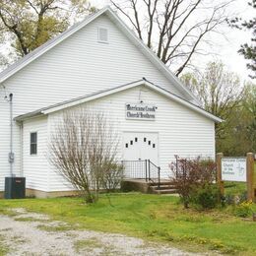
[[[97,41],[97,29],[108,30],[108,43]],[[105,16],[74,33],[4,82],[0,88],[0,191],[9,175],[9,105],[4,96],[14,95],[14,116],[121,86],[146,77],[179,96],[160,70]],[[14,128],[15,171],[20,175],[20,128]]]

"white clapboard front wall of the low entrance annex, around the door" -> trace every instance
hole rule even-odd
[[[118,158],[122,159],[123,132],[159,132],[160,139],[160,168],[162,177],[171,175],[169,163],[174,160],[174,155],[181,157],[215,157],[215,130],[214,122],[195,111],[180,105],[160,94],[141,87],[126,90],[115,95],[101,97],[94,101],[84,103],[72,109],[88,107],[104,111],[119,133],[120,147]],[[140,98],[149,104],[156,104],[157,117],[155,121],[126,120],[125,103],[138,102]],[[53,132],[58,118],[62,112],[49,114],[49,131]],[[49,169],[49,190],[66,190],[56,173]]]

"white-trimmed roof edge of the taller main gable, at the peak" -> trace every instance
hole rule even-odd
[[[120,29],[120,31],[124,32],[124,34],[132,41],[132,43],[135,44],[139,48],[139,50],[150,59],[150,61],[160,70],[160,72],[170,81],[170,83],[175,88],[177,88],[178,91],[182,92],[182,95],[184,95],[188,100],[198,103],[198,99],[181,84],[181,82],[175,77],[175,75],[172,74],[171,71],[160,61],[156,54],[151,49],[149,49],[142,42],[142,40],[140,40],[134,34],[134,32],[132,32],[108,6],[99,10],[96,14],[89,16],[83,22],[71,27],[66,32],[63,32],[60,35],[54,37],[53,39],[47,41],[46,43],[32,51],[30,54],[25,56],[23,59],[4,70],[2,73],[0,73],[0,83],[4,82],[8,78],[16,74],[19,70],[29,65],[33,60],[37,59],[43,53],[56,46],[64,39],[71,36],[73,33],[80,31],[88,24],[95,21],[97,17],[103,14],[106,15],[117,26],[117,28]]]

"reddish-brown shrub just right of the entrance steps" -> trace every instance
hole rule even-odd
[[[194,160],[175,157],[176,161],[170,163],[172,181],[184,208],[188,208],[197,191],[208,189],[216,180],[216,163],[213,160],[202,160],[200,157]]]

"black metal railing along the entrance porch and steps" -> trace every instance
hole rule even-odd
[[[124,177],[145,179],[160,187],[160,166],[151,160],[122,160]]]

